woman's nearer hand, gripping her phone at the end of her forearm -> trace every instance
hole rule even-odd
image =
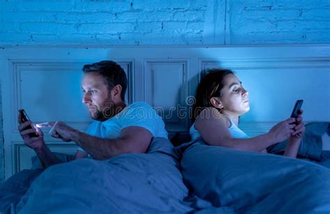
[[[283,140],[290,138],[292,133],[294,133],[293,128],[296,126],[294,124],[295,120],[295,118],[291,117],[288,120],[279,122],[269,130],[267,135],[273,142],[282,142]]]

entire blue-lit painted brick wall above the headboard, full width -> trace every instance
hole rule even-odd
[[[1,1],[0,45],[329,43],[329,0]]]

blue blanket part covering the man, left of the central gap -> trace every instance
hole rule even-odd
[[[193,211],[190,202],[184,202],[188,189],[171,143],[165,138],[154,139],[148,152],[124,154],[107,161],[84,158],[53,165],[42,173],[40,170],[19,172],[0,187],[0,212]]]

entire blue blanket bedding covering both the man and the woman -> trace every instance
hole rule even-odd
[[[24,170],[0,186],[3,213],[312,213],[330,211],[330,170],[292,158],[190,142],[107,161]],[[162,148],[162,149],[161,149]],[[37,177],[37,178],[36,178]]]

